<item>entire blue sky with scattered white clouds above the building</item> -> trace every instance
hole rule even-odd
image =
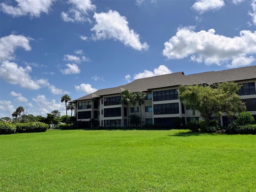
[[[137,78],[256,65],[256,0],[1,0],[0,117]],[[69,114],[71,111],[69,111]]]

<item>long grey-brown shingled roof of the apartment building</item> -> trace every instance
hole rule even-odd
[[[79,100],[88,100],[99,98],[104,95],[119,94],[123,90],[129,89],[131,92],[148,91],[150,89],[165,88],[183,85],[195,84],[214,84],[228,81],[241,81],[256,79],[256,66],[248,66],[236,69],[222,71],[210,71],[204,73],[184,75],[183,72],[170,73],[165,75],[153,76],[148,78],[136,79],[128,84],[98,90],[71,102]]]

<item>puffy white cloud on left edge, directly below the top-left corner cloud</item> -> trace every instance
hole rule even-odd
[[[16,47],[23,47],[26,51],[30,51],[31,47],[29,41],[32,38],[27,38],[22,35],[9,35],[0,39],[0,62],[5,60],[12,60],[15,58],[14,52]]]

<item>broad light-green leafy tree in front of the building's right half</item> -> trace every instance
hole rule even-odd
[[[209,118],[217,114],[220,118],[222,112],[228,116],[246,110],[245,104],[237,94],[241,86],[234,82],[224,82],[214,85],[180,85],[179,99],[184,105],[192,109],[193,115],[198,111],[209,125]]]

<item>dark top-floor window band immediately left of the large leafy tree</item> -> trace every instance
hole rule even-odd
[[[154,101],[174,100],[178,99],[178,91],[176,89],[154,91],[153,96]]]

